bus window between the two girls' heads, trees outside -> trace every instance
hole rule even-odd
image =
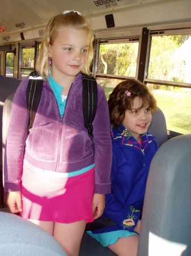
[[[103,86],[107,98],[119,82],[125,78],[134,79],[137,72],[138,38],[124,40],[121,43],[112,40],[99,42],[96,80]]]

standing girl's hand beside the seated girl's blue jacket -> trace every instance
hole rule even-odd
[[[94,194],[92,199],[92,210],[94,214],[94,220],[101,217],[105,209],[105,195],[104,194]]]

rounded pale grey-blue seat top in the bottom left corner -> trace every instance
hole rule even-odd
[[[0,212],[1,255],[67,256],[48,232],[16,214]]]

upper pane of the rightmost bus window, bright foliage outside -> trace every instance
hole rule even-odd
[[[191,35],[151,37],[148,79],[191,83]]]

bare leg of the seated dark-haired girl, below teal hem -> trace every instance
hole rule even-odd
[[[108,247],[118,256],[137,256],[138,241],[139,236],[120,237]]]

